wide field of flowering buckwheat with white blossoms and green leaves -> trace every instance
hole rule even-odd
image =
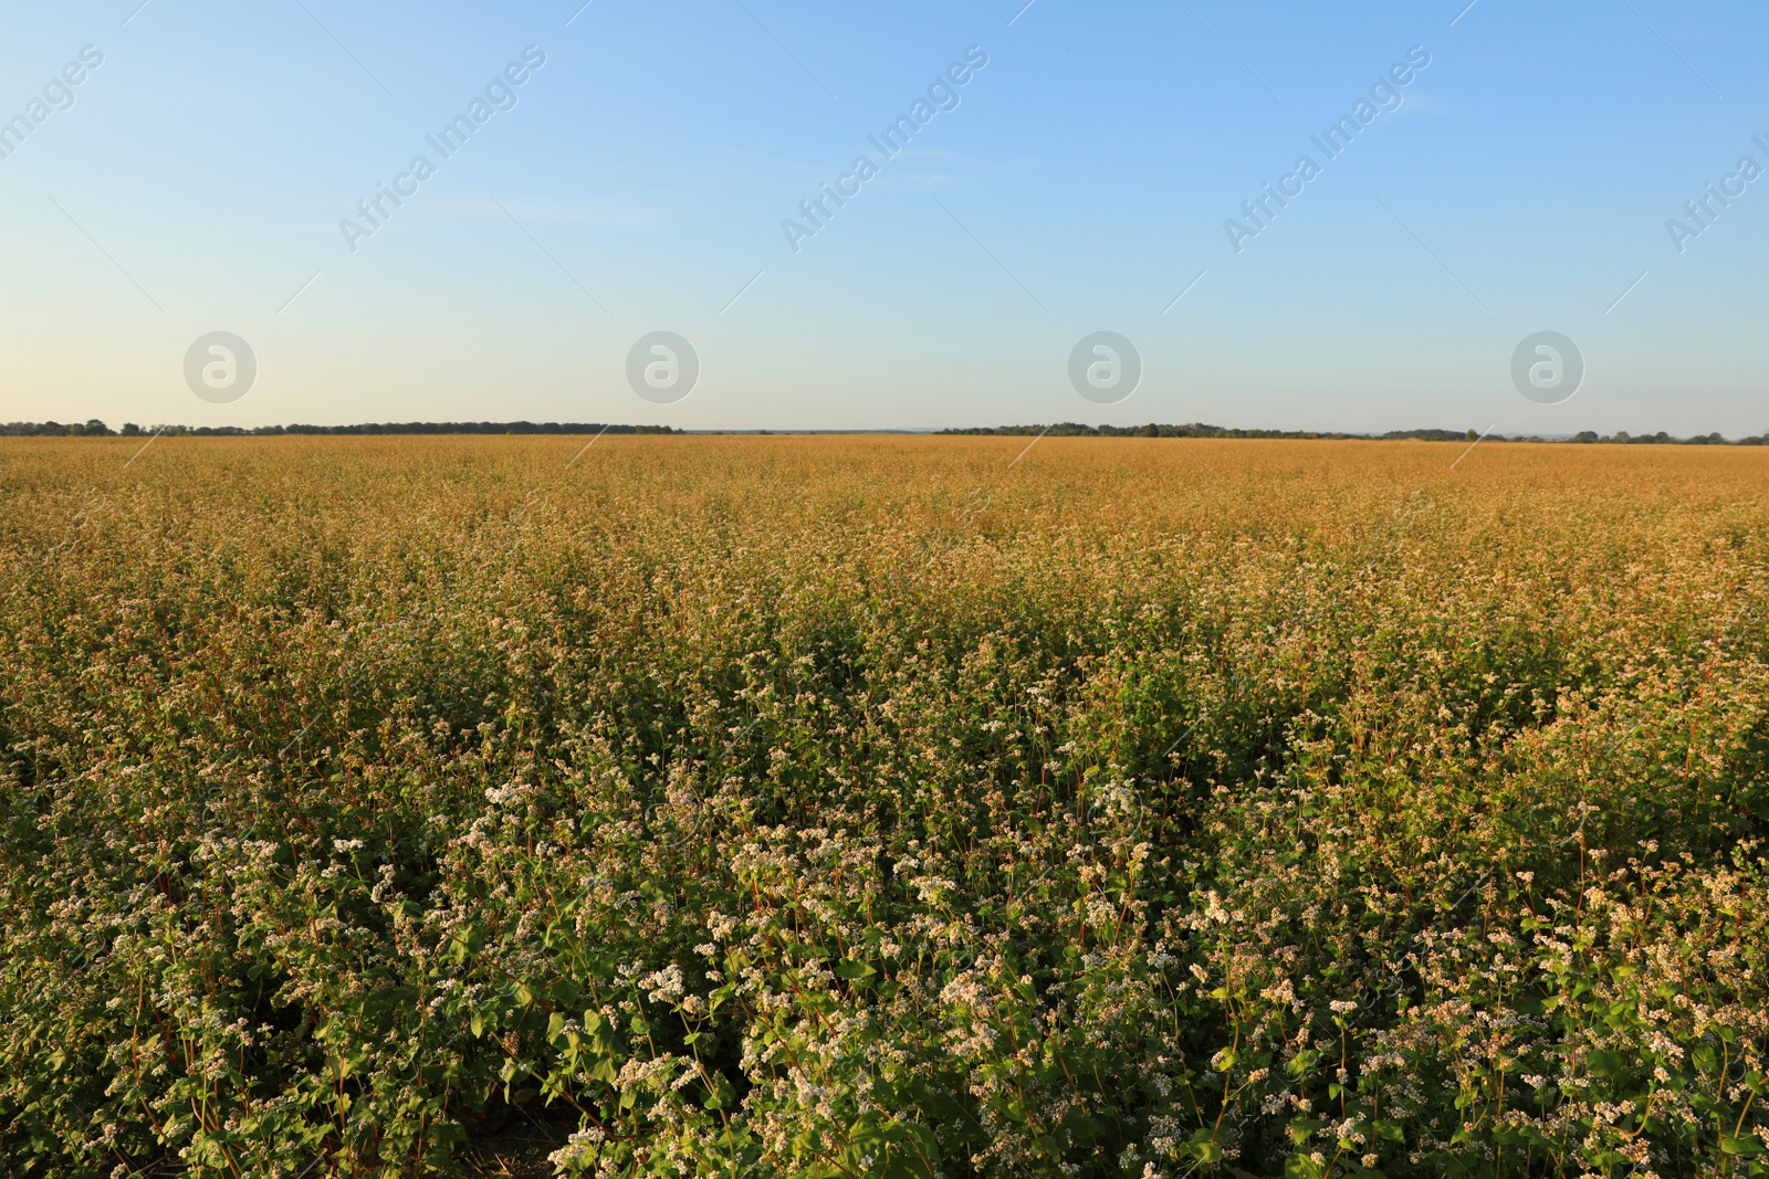
[[[0,440],[0,1170],[1769,1172],[1769,453],[586,440]]]

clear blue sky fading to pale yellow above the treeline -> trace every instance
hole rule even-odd
[[[1769,430],[1760,4],[14,4],[0,421]]]

